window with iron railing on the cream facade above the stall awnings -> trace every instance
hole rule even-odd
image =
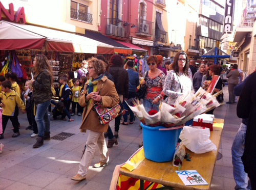
[[[71,1],[70,17],[76,20],[92,23],[92,14],[89,13],[89,6]]]

